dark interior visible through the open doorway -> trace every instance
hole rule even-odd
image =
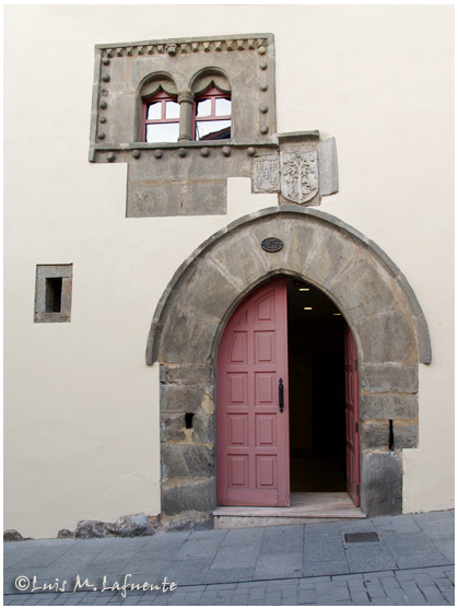
[[[345,491],[345,325],[322,291],[287,279],[292,492]]]

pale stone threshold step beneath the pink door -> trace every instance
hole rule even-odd
[[[283,526],[362,519],[347,492],[292,492],[291,506],[218,506],[215,528]]]

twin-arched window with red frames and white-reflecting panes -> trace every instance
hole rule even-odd
[[[208,82],[209,78],[204,81],[204,89],[195,93],[175,93],[173,90],[176,87],[165,80],[164,86],[161,81],[155,83],[153,93],[150,92],[151,84],[146,86],[141,95],[142,141],[162,143],[231,139],[230,87],[220,89],[213,80]]]

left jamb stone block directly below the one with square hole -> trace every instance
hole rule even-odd
[[[204,445],[163,443],[161,455],[163,473],[166,479],[214,475],[214,453]]]

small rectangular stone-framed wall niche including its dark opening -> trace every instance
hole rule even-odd
[[[35,323],[70,323],[73,265],[37,265]]]

